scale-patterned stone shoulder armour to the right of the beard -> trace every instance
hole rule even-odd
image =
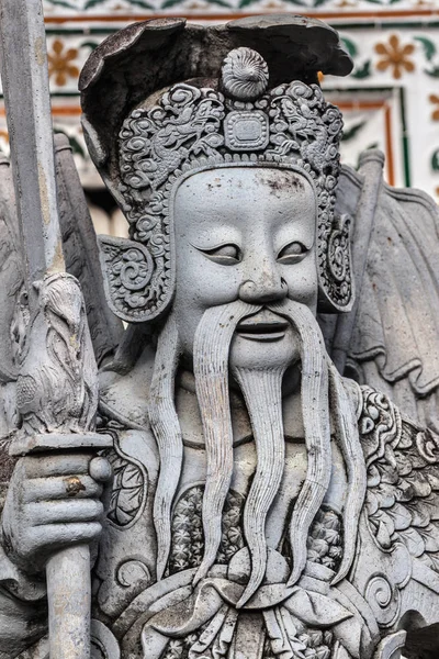
[[[438,437],[405,418],[385,394],[360,391],[370,532],[383,550],[403,544],[413,559],[439,571]]]

